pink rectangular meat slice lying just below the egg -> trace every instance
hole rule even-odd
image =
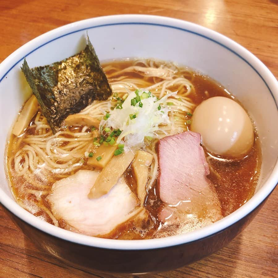
[[[184,225],[192,224],[191,229],[194,223],[203,226],[222,217],[216,190],[207,178],[209,167],[200,143],[200,134],[192,131],[159,140],[158,185],[165,203],[159,214],[161,221],[182,218]]]

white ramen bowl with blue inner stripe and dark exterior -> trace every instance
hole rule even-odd
[[[148,15],[93,18],[57,28],[20,47],[0,65],[1,149],[31,90],[20,69],[60,61],[79,52],[90,37],[101,61],[156,58],[209,75],[248,110],[261,140],[262,166],[254,196],[229,216],[182,235],[147,240],[113,240],[73,233],[24,210],[11,193],[5,163],[0,168],[0,202],[23,233],[53,256],[103,272],[162,272],[192,263],[225,246],[250,223],[278,181],[278,82],[249,51],[227,37],[186,21]]]

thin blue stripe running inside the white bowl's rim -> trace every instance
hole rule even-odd
[[[88,27],[88,28],[82,28],[82,29],[79,29],[79,30],[76,30],[76,31],[73,31],[73,32],[69,32],[69,33],[66,33],[62,36],[58,36],[57,38],[54,38],[50,41],[47,41],[45,42],[44,44],[38,46],[37,48],[33,49],[32,51],[30,51],[29,53],[27,53],[24,57],[27,57],[29,54],[35,52],[37,49],[41,48],[42,46],[52,42],[52,41],[55,41],[55,40],[58,40],[59,38],[62,38],[64,36],[68,36],[70,34],[73,34],[73,33],[77,33],[77,32],[80,32],[80,31],[84,31],[84,30],[88,30],[88,29],[93,29],[93,28],[101,28],[101,27],[106,27],[106,26],[113,26],[113,25],[152,25],[152,26],[159,26],[159,27],[166,27],[166,28],[172,28],[172,29],[177,29],[177,30],[180,30],[180,31],[183,31],[183,32],[188,32],[188,33],[192,33],[194,35],[197,35],[197,36],[200,36],[200,37],[203,37],[209,41],[212,41],[222,47],[224,47],[225,49],[229,50],[230,52],[232,52],[233,54],[235,54],[237,57],[241,58],[244,62],[246,62],[258,75],[259,77],[263,80],[264,84],[266,85],[266,87],[268,88],[275,104],[276,104],[276,108],[278,109],[278,105],[276,103],[276,100],[275,100],[275,97],[271,91],[271,89],[269,88],[269,86],[267,85],[266,81],[263,79],[262,75],[260,75],[260,73],[254,68],[254,66],[252,66],[245,58],[243,58],[241,55],[239,55],[237,52],[235,52],[233,49],[230,49],[228,46],[220,43],[219,41],[216,41],[212,38],[209,38],[205,35],[202,35],[202,34],[199,34],[197,32],[193,32],[193,31],[190,31],[190,30],[187,30],[187,29],[184,29],[184,28],[180,28],[180,27],[176,27],[176,26],[171,26],[171,25],[165,25],[165,24],[157,24],[157,23],[145,23],[145,22],[122,22],[122,23],[110,23],[110,24],[101,24],[101,25],[96,25],[96,26],[91,26],[91,27]],[[23,58],[24,58],[23,57]],[[20,60],[18,60],[8,71],[6,71],[6,73],[1,77],[0,79],[0,82],[5,78],[5,76],[23,59],[21,58]]]

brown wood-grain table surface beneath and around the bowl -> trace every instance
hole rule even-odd
[[[53,28],[113,14],[184,19],[220,32],[256,55],[278,78],[278,1],[258,0],[21,0],[0,1],[0,62]],[[148,277],[278,277],[278,188],[248,228],[215,254]],[[60,261],[38,250],[0,207],[1,277],[115,277]],[[126,276],[118,276],[126,277]]]

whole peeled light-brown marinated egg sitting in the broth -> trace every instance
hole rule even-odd
[[[203,145],[216,155],[242,156],[254,143],[248,114],[237,102],[223,96],[209,98],[197,106],[191,130],[199,132]]]

